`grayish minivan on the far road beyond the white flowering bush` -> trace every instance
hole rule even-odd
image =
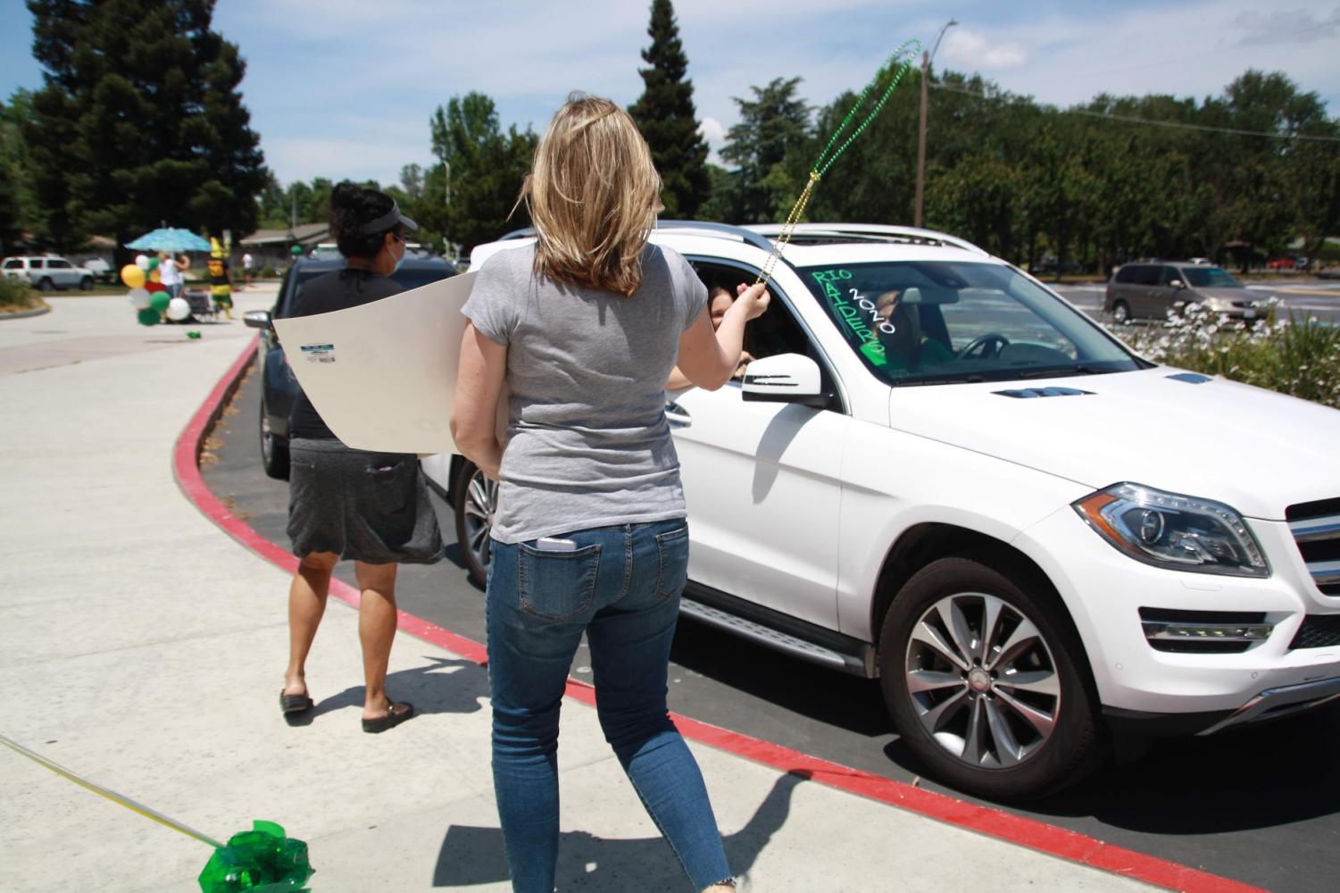
[[[1138,261],[1123,265],[1107,283],[1103,311],[1119,322],[1136,316],[1163,319],[1178,304],[1201,303],[1230,319],[1256,319],[1264,304],[1227,271],[1190,260]]]

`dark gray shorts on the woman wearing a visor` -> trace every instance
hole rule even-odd
[[[418,459],[338,440],[288,444],[288,538],[293,555],[335,552],[368,564],[430,564],[442,534]]]

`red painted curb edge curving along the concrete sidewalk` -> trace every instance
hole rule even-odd
[[[259,339],[257,339],[259,341]],[[205,485],[200,475],[200,449],[205,437],[222,413],[226,400],[237,388],[247,366],[256,357],[257,341],[251,342],[241,355],[229,366],[214,389],[196,412],[181,437],[177,438],[173,468],[177,484],[206,518],[218,524],[233,539],[255,551],[261,558],[292,573],[297,567],[287,550],[269,542],[244,520],[233,515],[217,496]],[[331,579],[331,595],[358,606],[359,591],[352,586]],[[445,648],[477,664],[485,664],[488,657],[482,645],[430,623],[421,617],[399,611],[399,629],[417,636],[426,642]],[[583,704],[595,705],[595,689],[584,682],[568,680],[568,697]],[[740,732],[718,728],[695,719],[671,713],[679,732],[694,741],[716,747],[756,763],[762,763],[784,772],[827,784],[860,796],[888,803],[918,815],[925,815],[949,825],[966,827],[988,837],[1009,843],[1026,846],[1048,855],[1055,855],[1080,865],[1120,874],[1135,881],[1152,884],[1186,893],[1264,893],[1261,888],[1233,881],[1217,874],[1209,874],[1186,865],[1178,865],[1143,853],[1135,853],[1120,846],[1104,843],[1096,838],[1069,831],[1047,822],[1014,815],[988,806],[965,803],[963,800],[934,791],[927,791],[903,782],[895,782],[880,775],[862,772],[838,763],[793,751],[789,747],[773,744]]]

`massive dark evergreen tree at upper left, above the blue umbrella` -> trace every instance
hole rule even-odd
[[[255,228],[267,177],[213,0],[28,0],[44,68],[25,131],[43,229],[121,245],[166,223]]]

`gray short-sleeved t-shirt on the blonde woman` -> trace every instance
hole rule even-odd
[[[480,267],[461,312],[508,347],[498,542],[685,516],[665,386],[706,304],[689,261],[650,244],[631,298],[545,279],[533,245]]]

